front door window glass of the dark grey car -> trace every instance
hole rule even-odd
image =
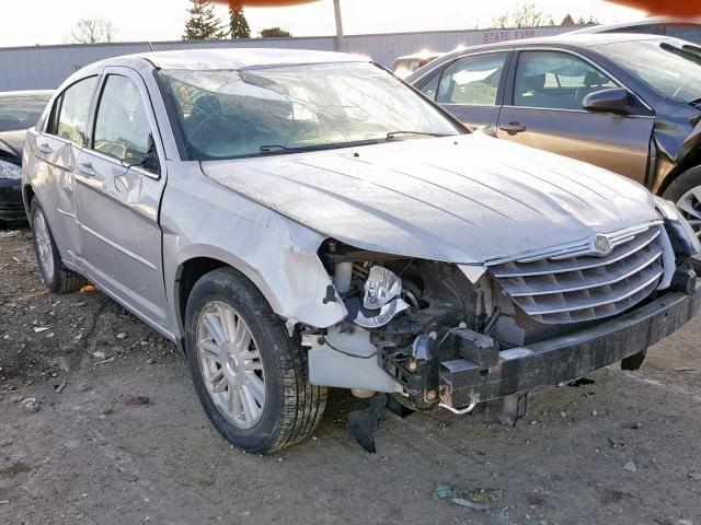
[[[618,84],[578,57],[560,51],[521,51],[514,83],[514,105],[582,109],[584,97]]]

